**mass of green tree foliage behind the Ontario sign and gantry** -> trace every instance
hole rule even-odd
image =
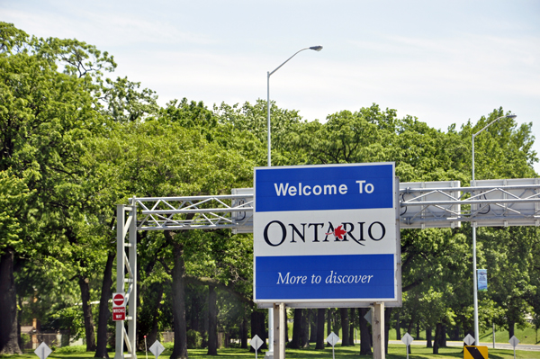
[[[228,194],[252,186],[253,167],[266,166],[265,101],[209,109],[184,98],[160,108],[153,91],[108,78],[115,67],[93,45],[38,39],[0,22],[0,253],[15,250],[23,319],[37,315],[76,335],[83,317],[73,281],[87,279],[99,298],[104,258],[114,250],[116,204],[132,196]],[[376,104],[308,122],[271,103],[272,164],[393,161],[401,182],[467,184],[473,133],[504,114],[500,108],[442,131]],[[532,123],[493,123],[475,139],[476,178],[536,176],[533,142]],[[468,224],[401,231],[403,322],[472,328],[470,238]],[[488,269],[490,283],[480,295],[484,328],[492,321],[526,326],[530,315],[537,330],[538,238],[538,229],[479,229],[479,267]],[[193,230],[173,241],[182,244],[189,278],[221,285],[218,325],[236,333],[251,310],[251,236]],[[172,328],[172,247],[163,233],[139,234],[141,330]],[[201,345],[197,321],[207,310],[201,288],[190,285],[186,297],[193,347]]]

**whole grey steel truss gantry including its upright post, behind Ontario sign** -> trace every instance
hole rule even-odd
[[[137,306],[137,231],[232,229],[253,231],[252,188],[226,195],[131,198],[117,207],[117,292],[126,293],[126,321],[116,323],[115,359],[135,358]],[[401,183],[400,228],[539,226],[540,179]],[[139,216],[139,222],[138,222]],[[126,253],[126,250],[128,253]],[[126,291],[126,286],[128,287]],[[122,348],[125,342],[128,354]]]

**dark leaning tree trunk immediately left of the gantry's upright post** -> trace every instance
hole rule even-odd
[[[107,353],[107,322],[111,312],[109,311],[109,300],[112,298],[112,264],[116,254],[109,252],[107,263],[103,271],[102,293],[99,299],[99,314],[97,319],[97,346],[94,358],[109,358]]]

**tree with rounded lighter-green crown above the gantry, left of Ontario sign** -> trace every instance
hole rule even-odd
[[[117,166],[117,182],[133,195],[227,193],[233,186],[251,180],[249,162],[243,157],[217,143],[209,143],[199,129],[187,130],[174,119],[131,123],[105,142],[101,147],[103,157]],[[157,160],[160,157],[167,161]],[[166,232],[158,254],[172,275],[176,336],[172,357],[187,356],[184,287],[188,271],[192,271],[191,258],[195,259],[193,263],[202,264],[208,254],[215,253],[211,251],[209,236],[213,235],[198,231]]]

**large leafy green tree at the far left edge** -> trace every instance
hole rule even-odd
[[[103,119],[95,111],[99,104],[92,95],[94,68],[86,68],[85,74],[76,76],[77,64],[69,62],[81,53],[85,57],[84,50],[76,51],[77,46],[85,48],[82,43],[30,39],[23,31],[4,22],[0,24],[0,32],[3,39],[0,45],[3,49],[0,53],[0,171],[10,170],[30,190],[31,206],[22,216],[28,220],[31,215],[34,219],[30,222],[32,225],[25,226],[26,230],[21,232],[26,237],[23,243],[31,243],[32,253],[49,256],[51,253],[48,244],[44,246],[47,240],[42,233],[45,230],[58,233],[63,226],[60,213],[76,212],[78,203],[71,204],[80,200],[77,194],[83,193],[84,187],[78,181],[87,178],[83,166],[79,166],[85,152],[83,141],[103,130]],[[92,48],[85,49],[93,52]],[[69,51],[71,54],[67,55]],[[99,58],[97,52],[93,53]],[[69,62],[64,74],[58,72],[55,62],[58,57]],[[65,203],[62,199],[71,202]],[[9,247],[5,251],[16,260],[28,249]],[[7,272],[0,273],[0,277],[13,273],[13,263],[4,263],[3,270]],[[14,292],[14,287],[8,292]],[[8,346],[12,348],[7,349],[8,352],[16,351],[15,346]]]

